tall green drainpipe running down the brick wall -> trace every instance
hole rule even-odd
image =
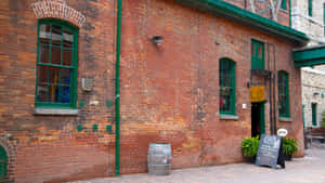
[[[119,177],[119,122],[120,122],[120,91],[119,91],[119,63],[120,63],[120,31],[121,31],[121,0],[117,0],[117,31],[116,31],[116,65],[115,65],[115,174]]]

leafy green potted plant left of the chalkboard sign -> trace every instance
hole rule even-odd
[[[249,161],[255,162],[256,156],[259,151],[260,140],[259,136],[245,138],[242,142],[243,156]]]

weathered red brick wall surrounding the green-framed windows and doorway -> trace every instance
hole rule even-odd
[[[113,175],[116,1],[69,0],[87,19],[79,30],[77,117],[32,115],[37,18],[34,0],[0,4],[0,133],[13,135],[10,180],[61,182]],[[153,36],[162,36],[155,47]],[[151,142],[172,145],[172,168],[242,160],[240,142],[250,135],[251,38],[276,45],[276,68],[290,75],[292,122],[280,122],[302,147],[300,73],[292,43],[171,0],[125,0],[121,32],[121,173],[145,172]],[[217,43],[216,43],[217,42]],[[219,58],[236,63],[236,114],[219,120]],[[91,92],[81,78],[92,78]],[[242,104],[248,105],[242,109]],[[266,104],[268,105],[268,104]],[[266,117],[265,117],[266,118]],[[268,119],[266,119],[268,120]],[[99,132],[92,125],[99,125]],[[269,123],[269,122],[266,122]],[[86,130],[77,131],[82,125]],[[303,151],[300,152],[302,155]]]

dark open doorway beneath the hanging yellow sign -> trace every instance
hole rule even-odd
[[[264,103],[251,103],[251,136],[265,133]]]

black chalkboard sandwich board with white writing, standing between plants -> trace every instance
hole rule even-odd
[[[281,136],[268,134],[261,135],[256,165],[268,166],[273,169],[275,169],[277,165],[281,165],[285,168]]]

